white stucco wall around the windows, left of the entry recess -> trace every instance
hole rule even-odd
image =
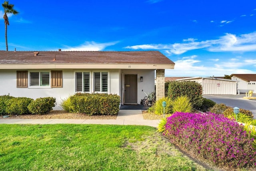
[[[30,70],[32,71],[32,70]],[[44,70],[46,71],[46,70]],[[50,71],[50,70],[49,70]],[[36,99],[39,97],[55,97],[56,107],[54,110],[60,110],[62,99],[74,95],[75,93],[75,71],[62,70],[63,87],[62,88],[17,88],[16,87],[16,70],[0,70],[0,95],[10,94],[14,97],[30,97]],[[81,70],[80,70],[81,71]],[[99,70],[90,70],[99,71]],[[119,91],[119,70],[108,70],[109,72],[109,93],[120,95]]]

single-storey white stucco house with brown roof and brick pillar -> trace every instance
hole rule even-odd
[[[139,104],[145,93],[164,97],[165,69],[174,62],[158,51],[0,51],[0,95],[55,97],[76,92],[117,94],[121,104]],[[155,74],[156,73],[156,74]]]

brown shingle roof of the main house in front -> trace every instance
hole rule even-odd
[[[39,52],[34,56],[34,52]],[[54,56],[56,61],[53,61]],[[0,64],[172,64],[159,51],[0,51]]]

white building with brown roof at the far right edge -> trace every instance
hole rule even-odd
[[[256,74],[231,74],[231,79],[238,81],[237,89],[241,93],[249,90],[256,92]]]

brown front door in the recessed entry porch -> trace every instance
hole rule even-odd
[[[137,104],[137,75],[124,75],[124,103]]]

